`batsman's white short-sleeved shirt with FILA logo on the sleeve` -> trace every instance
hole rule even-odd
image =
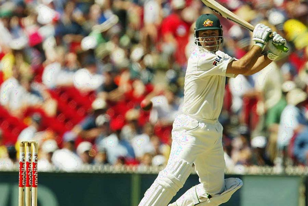
[[[236,77],[226,74],[228,64],[236,60],[228,54],[208,52],[196,46],[188,59],[182,111],[192,118],[217,120],[221,112],[225,78]]]

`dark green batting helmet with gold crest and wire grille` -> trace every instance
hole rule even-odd
[[[218,29],[218,36],[209,36],[201,38],[198,36],[199,31]],[[216,15],[202,14],[198,17],[195,27],[195,44],[198,47],[203,47],[211,52],[215,52],[221,48],[224,38],[222,36],[222,26]],[[206,41],[206,39],[214,39]],[[213,44],[213,45],[211,45]]]

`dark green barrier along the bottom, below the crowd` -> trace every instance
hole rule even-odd
[[[39,172],[38,206],[136,206],[156,176],[129,172]],[[304,175],[228,174],[228,177],[240,177],[244,185],[223,206],[306,205]],[[173,201],[198,183],[198,176],[191,174]],[[0,206],[15,205],[18,205],[18,172],[0,172]]]

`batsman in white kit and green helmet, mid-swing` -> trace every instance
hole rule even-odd
[[[225,78],[257,73],[281,53],[274,44],[286,44],[286,40],[264,24],[257,24],[253,30],[255,44],[245,56],[236,59],[219,50],[224,40],[222,35],[222,26],[215,15],[199,16],[196,46],[185,75],[184,106],[173,123],[171,154],[166,168],[145,192],[139,206],[166,206],[183,187],[193,163],[200,184],[169,206],[217,206],[227,202],[243,185],[241,179],[224,176],[223,127],[217,119]],[[273,38],[269,40],[270,35]],[[261,54],[266,45],[269,51]]]

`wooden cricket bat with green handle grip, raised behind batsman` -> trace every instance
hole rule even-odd
[[[244,19],[238,17],[237,15],[235,15],[234,13],[232,13],[231,11],[229,11],[228,9],[226,9],[224,6],[221,6],[219,3],[217,3],[214,0],[201,0],[207,7],[209,7],[211,10],[213,10],[215,13],[221,15],[222,17],[229,19],[239,25],[241,25],[242,27],[248,29],[249,31],[253,32],[253,25],[251,25],[250,23],[248,23],[247,21],[245,21]],[[280,50],[282,50],[283,52],[288,52],[289,48],[284,46],[284,45],[279,45],[275,47],[279,48]]]

